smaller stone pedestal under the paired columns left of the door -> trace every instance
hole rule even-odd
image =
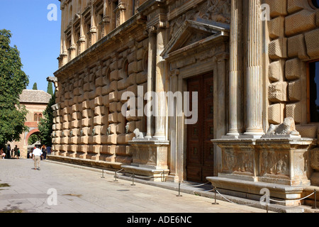
[[[166,179],[169,175],[168,140],[136,139],[128,143],[133,148],[133,162],[131,165],[122,165],[125,172],[141,175],[153,181]]]

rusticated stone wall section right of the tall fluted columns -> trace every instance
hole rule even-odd
[[[302,125],[307,123],[306,61],[319,57],[319,9],[313,9],[308,0],[267,0],[266,3],[271,16],[267,23],[271,61],[268,120],[279,124],[285,117],[293,117],[296,124]],[[317,137],[317,127],[297,127],[303,137]]]

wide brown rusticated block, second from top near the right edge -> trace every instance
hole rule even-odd
[[[293,35],[308,31],[315,28],[315,12],[303,10],[298,13],[294,13],[290,16],[286,16],[285,32],[286,35]]]

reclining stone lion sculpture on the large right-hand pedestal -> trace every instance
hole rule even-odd
[[[299,135],[293,118],[285,118],[280,125],[270,125],[266,135]]]

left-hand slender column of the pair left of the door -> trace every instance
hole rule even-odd
[[[147,61],[147,102],[151,100],[151,93],[154,92],[153,81],[155,79],[155,60],[156,60],[156,28],[151,26],[148,30],[148,61]],[[147,132],[145,138],[152,138],[152,116],[150,109],[147,109]]]

